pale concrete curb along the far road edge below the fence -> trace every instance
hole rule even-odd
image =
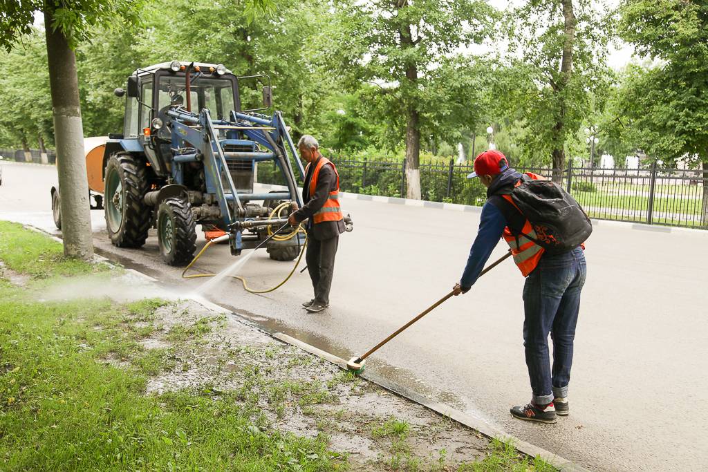
[[[265,183],[259,183],[265,188],[271,188],[273,190],[287,190],[285,185],[270,185]],[[302,189],[299,189],[302,191]],[[409,207],[423,207],[423,208],[435,208],[435,209],[446,209],[455,212],[473,212],[480,213],[482,211],[481,207],[474,207],[472,205],[459,205],[458,203],[443,203],[443,202],[428,202],[428,200],[411,200],[410,198],[399,198],[399,197],[381,197],[379,195],[363,195],[361,193],[352,192],[339,192],[341,197],[352,200],[365,200],[369,202],[379,202],[379,203],[392,203],[394,205],[408,205]],[[643,224],[643,223],[633,223],[632,221],[614,221],[611,219],[592,219],[593,226],[606,226],[606,225],[622,225],[625,229],[636,229],[639,231],[655,231],[657,233],[672,233],[676,232],[690,232],[694,234],[704,234],[708,235],[708,231],[705,229],[695,229],[695,228],[682,228],[680,226],[662,226],[659,224]]]

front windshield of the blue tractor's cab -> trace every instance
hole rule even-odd
[[[190,96],[193,113],[198,113],[203,108],[208,108],[212,120],[219,117],[228,119],[229,113],[234,109],[234,84],[232,79],[207,79],[198,77],[190,84]],[[170,75],[160,77],[158,110],[168,106],[173,96],[179,95],[185,100],[185,77],[183,75]],[[225,97],[228,97],[225,98]]]

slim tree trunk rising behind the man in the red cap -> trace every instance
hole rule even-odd
[[[561,182],[563,179],[563,170],[566,166],[566,153],[565,148],[565,115],[566,115],[566,103],[563,97],[565,88],[571,79],[573,74],[573,42],[575,42],[576,35],[576,16],[573,13],[573,1],[572,0],[561,0],[561,6],[563,6],[563,56],[561,57],[561,76],[558,84],[554,87],[554,92],[556,96],[561,97],[559,99],[559,120],[554,126],[554,149],[552,151],[552,161],[553,161],[553,180],[554,182]]]

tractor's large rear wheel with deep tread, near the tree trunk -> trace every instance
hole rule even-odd
[[[120,182],[117,191],[112,190],[115,178]],[[103,207],[110,242],[119,248],[143,246],[152,219],[152,208],[142,200],[148,188],[145,166],[131,154],[113,154],[105,165],[104,183]]]

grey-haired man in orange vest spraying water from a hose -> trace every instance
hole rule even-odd
[[[305,134],[297,143],[300,157],[307,161],[302,185],[304,205],[292,212],[288,221],[295,226],[307,219],[307,270],[314,287],[314,299],[302,306],[317,313],[329,306],[329,289],[334,274],[334,256],[344,218],[339,207],[339,174],[334,164],[319,152],[319,143]]]

